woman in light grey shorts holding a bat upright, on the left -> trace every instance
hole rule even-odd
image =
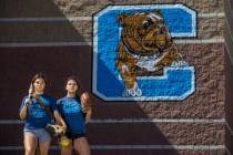
[[[26,121],[23,128],[23,144],[26,155],[34,155],[39,146],[40,155],[48,155],[51,136],[45,130],[45,125],[51,122],[52,117],[39,105],[38,100],[49,107],[55,118],[65,131],[67,125],[60,116],[53,97],[44,94],[47,85],[45,78],[42,73],[36,74],[31,80],[29,95],[24,96],[20,106],[20,118]]]

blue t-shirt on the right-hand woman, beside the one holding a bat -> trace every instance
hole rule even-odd
[[[62,118],[67,123],[67,131],[69,133],[85,133],[85,123],[79,99],[62,97],[57,101],[57,106]]]

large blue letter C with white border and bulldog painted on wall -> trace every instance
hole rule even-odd
[[[92,92],[104,101],[181,101],[195,91],[194,66],[173,38],[196,37],[183,4],[108,6],[93,17]]]

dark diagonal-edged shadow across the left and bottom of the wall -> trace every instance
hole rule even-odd
[[[91,16],[91,14],[90,14]],[[1,21],[1,43],[24,43],[24,46],[0,48],[0,120],[8,123],[0,124],[1,155],[22,154],[22,125],[12,120],[19,120],[18,108],[21,99],[27,95],[29,82],[33,74],[45,73],[48,78],[47,92],[57,99],[64,95],[64,81],[69,75],[77,75],[81,91],[91,91],[92,48],[89,45],[59,45],[59,42],[85,42],[81,32],[77,30],[78,22],[37,21],[36,18],[65,18],[58,6],[48,0],[1,0],[0,18],[20,20]],[[23,21],[33,18],[36,21]],[[78,25],[78,27],[75,27]],[[91,28],[90,28],[91,29]],[[37,43],[54,43],[59,46],[38,45]],[[28,46],[28,43],[36,43]],[[87,43],[88,44],[88,43]],[[130,102],[104,103],[98,97],[94,101],[94,118],[148,118],[148,114],[139,104]],[[122,110],[122,111],[121,111]],[[146,123],[92,123],[88,125],[89,142],[93,155],[103,154],[170,154],[176,155],[175,149],[101,149],[104,145],[170,145],[161,131],[154,124]],[[16,149],[7,151],[12,146]],[[4,149],[6,148],[6,149]],[[51,151],[58,154],[58,151]]]

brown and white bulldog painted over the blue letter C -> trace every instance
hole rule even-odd
[[[124,96],[140,96],[136,76],[140,70],[161,72],[173,62],[183,61],[160,11],[121,13],[116,69],[124,82]]]

